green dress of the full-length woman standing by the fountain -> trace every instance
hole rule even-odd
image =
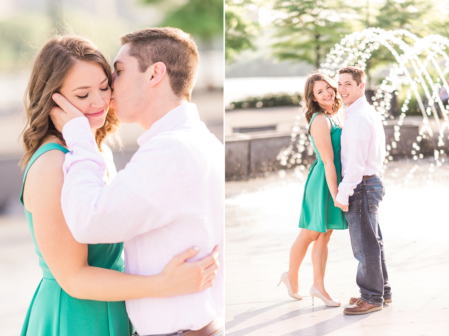
[[[312,119],[310,119],[309,130],[313,119],[315,119],[317,115],[318,113],[315,113],[312,116]],[[329,118],[329,116],[325,116]],[[335,170],[337,171],[337,184],[339,184],[341,182],[341,129],[331,118],[329,118],[329,120],[332,124],[331,141],[332,149],[334,151],[334,165]],[[312,140],[316,161],[309,168],[309,174],[304,186],[299,227],[318,232],[327,232],[327,230],[331,229],[347,229],[348,223],[346,222],[343,211],[334,206],[334,201],[326,182],[324,163],[316,149],[315,141],[312,136],[310,136],[310,139]]]

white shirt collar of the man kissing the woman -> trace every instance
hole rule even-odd
[[[194,103],[184,103],[175,107],[161,119],[157,120],[150,129],[145,131],[138,139],[137,143],[142,146],[151,138],[162,132],[173,130],[176,126],[189,119],[200,119],[197,105]]]

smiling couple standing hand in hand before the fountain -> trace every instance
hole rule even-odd
[[[326,306],[339,307],[324,286],[328,243],[334,229],[349,228],[354,257],[359,261],[356,281],[360,296],[349,299],[346,315],[382,310],[392,302],[382,233],[379,203],[385,194],[380,170],[385,160],[383,123],[365,97],[365,72],[345,67],[338,84],[328,76],[308,76],[304,88],[305,117],[317,160],[310,167],[304,187],[299,227],[290,250],[288,272],[281,274],[290,297],[302,299],[299,267],[310,243],[312,247],[314,297]],[[338,112],[345,109],[344,127]]]

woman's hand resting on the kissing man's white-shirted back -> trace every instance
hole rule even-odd
[[[189,248],[168,262],[159,274],[161,276],[161,286],[158,286],[159,297],[196,293],[212,287],[220,266],[218,261],[220,247],[217,245],[209,256],[201,260],[186,261],[199,251],[199,248]]]

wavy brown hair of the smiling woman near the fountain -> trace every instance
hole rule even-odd
[[[325,74],[318,72],[312,73],[307,76],[306,83],[304,85],[304,95],[302,97],[302,100],[305,103],[304,114],[307,123],[310,123],[310,119],[312,119],[314,113],[326,114],[326,111],[321,106],[319,106],[318,102],[315,102],[313,100],[313,84],[319,81],[325,81],[335,91],[335,99],[334,103],[332,104],[332,110],[334,111],[334,113],[337,113],[343,105],[341,98],[338,96],[337,87],[334,81]]]

